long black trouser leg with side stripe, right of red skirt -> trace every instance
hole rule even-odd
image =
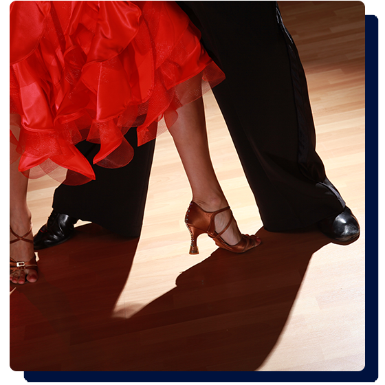
[[[226,79],[213,93],[266,230],[303,228],[345,203],[317,155],[303,66],[276,1],[177,1]]]

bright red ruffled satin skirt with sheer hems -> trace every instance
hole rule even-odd
[[[66,184],[125,166],[177,109],[224,79],[173,1],[10,1],[10,162]],[[65,171],[63,173],[63,171]]]

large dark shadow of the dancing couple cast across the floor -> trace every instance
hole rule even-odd
[[[166,294],[139,311],[124,299],[116,314],[138,239],[80,226],[39,252],[39,283],[10,297],[10,371],[255,371],[329,243],[317,230],[258,235],[258,248],[216,250]]]

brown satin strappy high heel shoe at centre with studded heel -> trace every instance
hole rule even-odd
[[[243,253],[248,250],[255,248],[261,243],[261,239],[256,235],[242,234],[241,241],[236,243],[236,245],[229,245],[222,238],[221,235],[228,230],[232,221],[235,221],[233,215],[231,214],[231,219],[225,228],[219,233],[215,231],[215,216],[219,212],[230,210],[230,206],[221,208],[214,212],[208,212],[200,208],[197,203],[191,202],[188,206],[186,217],[184,219],[188,231],[191,235],[191,245],[190,245],[190,254],[199,254],[197,247],[197,238],[200,234],[206,233],[210,238],[214,239],[219,248],[230,250],[230,252]],[[230,210],[231,211],[231,210]]]

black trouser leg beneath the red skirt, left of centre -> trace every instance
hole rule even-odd
[[[97,223],[116,234],[140,236],[155,140],[137,146],[135,128],[129,129],[125,137],[133,146],[134,156],[122,168],[93,165],[92,159],[100,146],[89,142],[80,142],[77,145],[93,165],[96,180],[80,186],[58,186],[52,203],[54,210]]]

